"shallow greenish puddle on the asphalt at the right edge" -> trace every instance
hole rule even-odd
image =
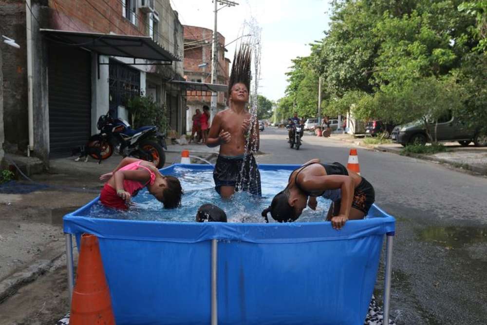
[[[487,228],[427,227],[419,233],[419,239],[446,248],[462,248],[470,244],[487,242]]]

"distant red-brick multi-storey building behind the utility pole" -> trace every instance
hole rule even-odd
[[[184,76],[189,82],[211,83],[213,31],[211,29],[184,26]],[[228,85],[230,60],[225,57],[225,38],[218,33],[217,84]],[[217,108],[224,110],[228,104],[228,93],[218,92]],[[191,117],[203,105],[210,107],[211,92],[187,91],[187,132],[191,132]]]

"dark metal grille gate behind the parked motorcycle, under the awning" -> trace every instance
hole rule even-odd
[[[118,106],[127,107],[127,101],[140,95],[140,72],[115,60],[109,64],[109,109],[113,117],[118,115]]]

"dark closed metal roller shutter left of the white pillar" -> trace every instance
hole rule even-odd
[[[49,48],[49,150],[67,157],[91,135],[91,55],[69,46]]]

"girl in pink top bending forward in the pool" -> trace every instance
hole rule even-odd
[[[102,181],[107,179],[100,193],[100,202],[109,208],[127,210],[131,197],[144,187],[165,208],[176,208],[181,204],[183,191],[179,180],[164,176],[149,161],[124,158],[113,172],[100,176]]]

